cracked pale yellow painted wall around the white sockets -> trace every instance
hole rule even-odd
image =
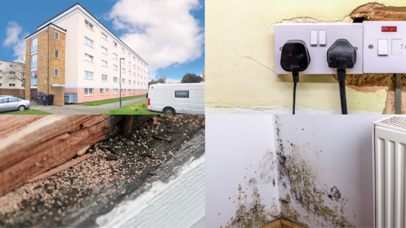
[[[273,24],[295,17],[341,21],[349,12],[369,2],[206,0],[206,106],[292,107],[292,76],[281,75],[283,82],[269,70],[275,71]],[[404,0],[381,3],[406,6]],[[332,75],[301,75],[299,80],[296,108],[341,108],[339,84]],[[383,97],[348,87],[346,91],[349,109],[384,109]]]

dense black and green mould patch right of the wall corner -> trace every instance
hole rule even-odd
[[[309,147],[297,145],[294,140],[282,140],[278,117],[276,119],[279,192],[288,193],[285,198],[280,198],[281,216],[306,225],[306,218],[297,212],[298,205],[313,215],[320,227],[355,227],[344,215],[349,199],[336,186],[328,187],[322,183],[318,170],[314,168],[318,167],[317,163],[302,158],[303,150]]]

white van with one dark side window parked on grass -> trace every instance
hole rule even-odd
[[[205,114],[205,82],[150,85],[148,109],[166,114]]]

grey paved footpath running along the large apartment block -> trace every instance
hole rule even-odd
[[[126,105],[137,103],[137,102],[140,102],[143,100],[147,100],[147,98],[140,97],[140,98],[121,101],[121,106],[126,106]],[[47,112],[51,112],[53,114],[58,114],[58,115],[71,115],[71,114],[83,115],[83,114],[100,114],[105,111],[110,111],[110,110],[113,110],[113,109],[116,109],[119,107],[120,107],[120,101],[110,103],[110,104],[102,104],[102,105],[98,105],[98,106],[65,104],[64,107],[59,107],[59,106],[54,106],[54,105],[44,106],[41,104],[31,102],[31,107],[29,109],[38,109],[41,111],[47,111]]]

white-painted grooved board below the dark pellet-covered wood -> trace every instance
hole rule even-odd
[[[205,216],[205,155],[179,167],[168,181],[96,219],[100,227],[191,227]]]

